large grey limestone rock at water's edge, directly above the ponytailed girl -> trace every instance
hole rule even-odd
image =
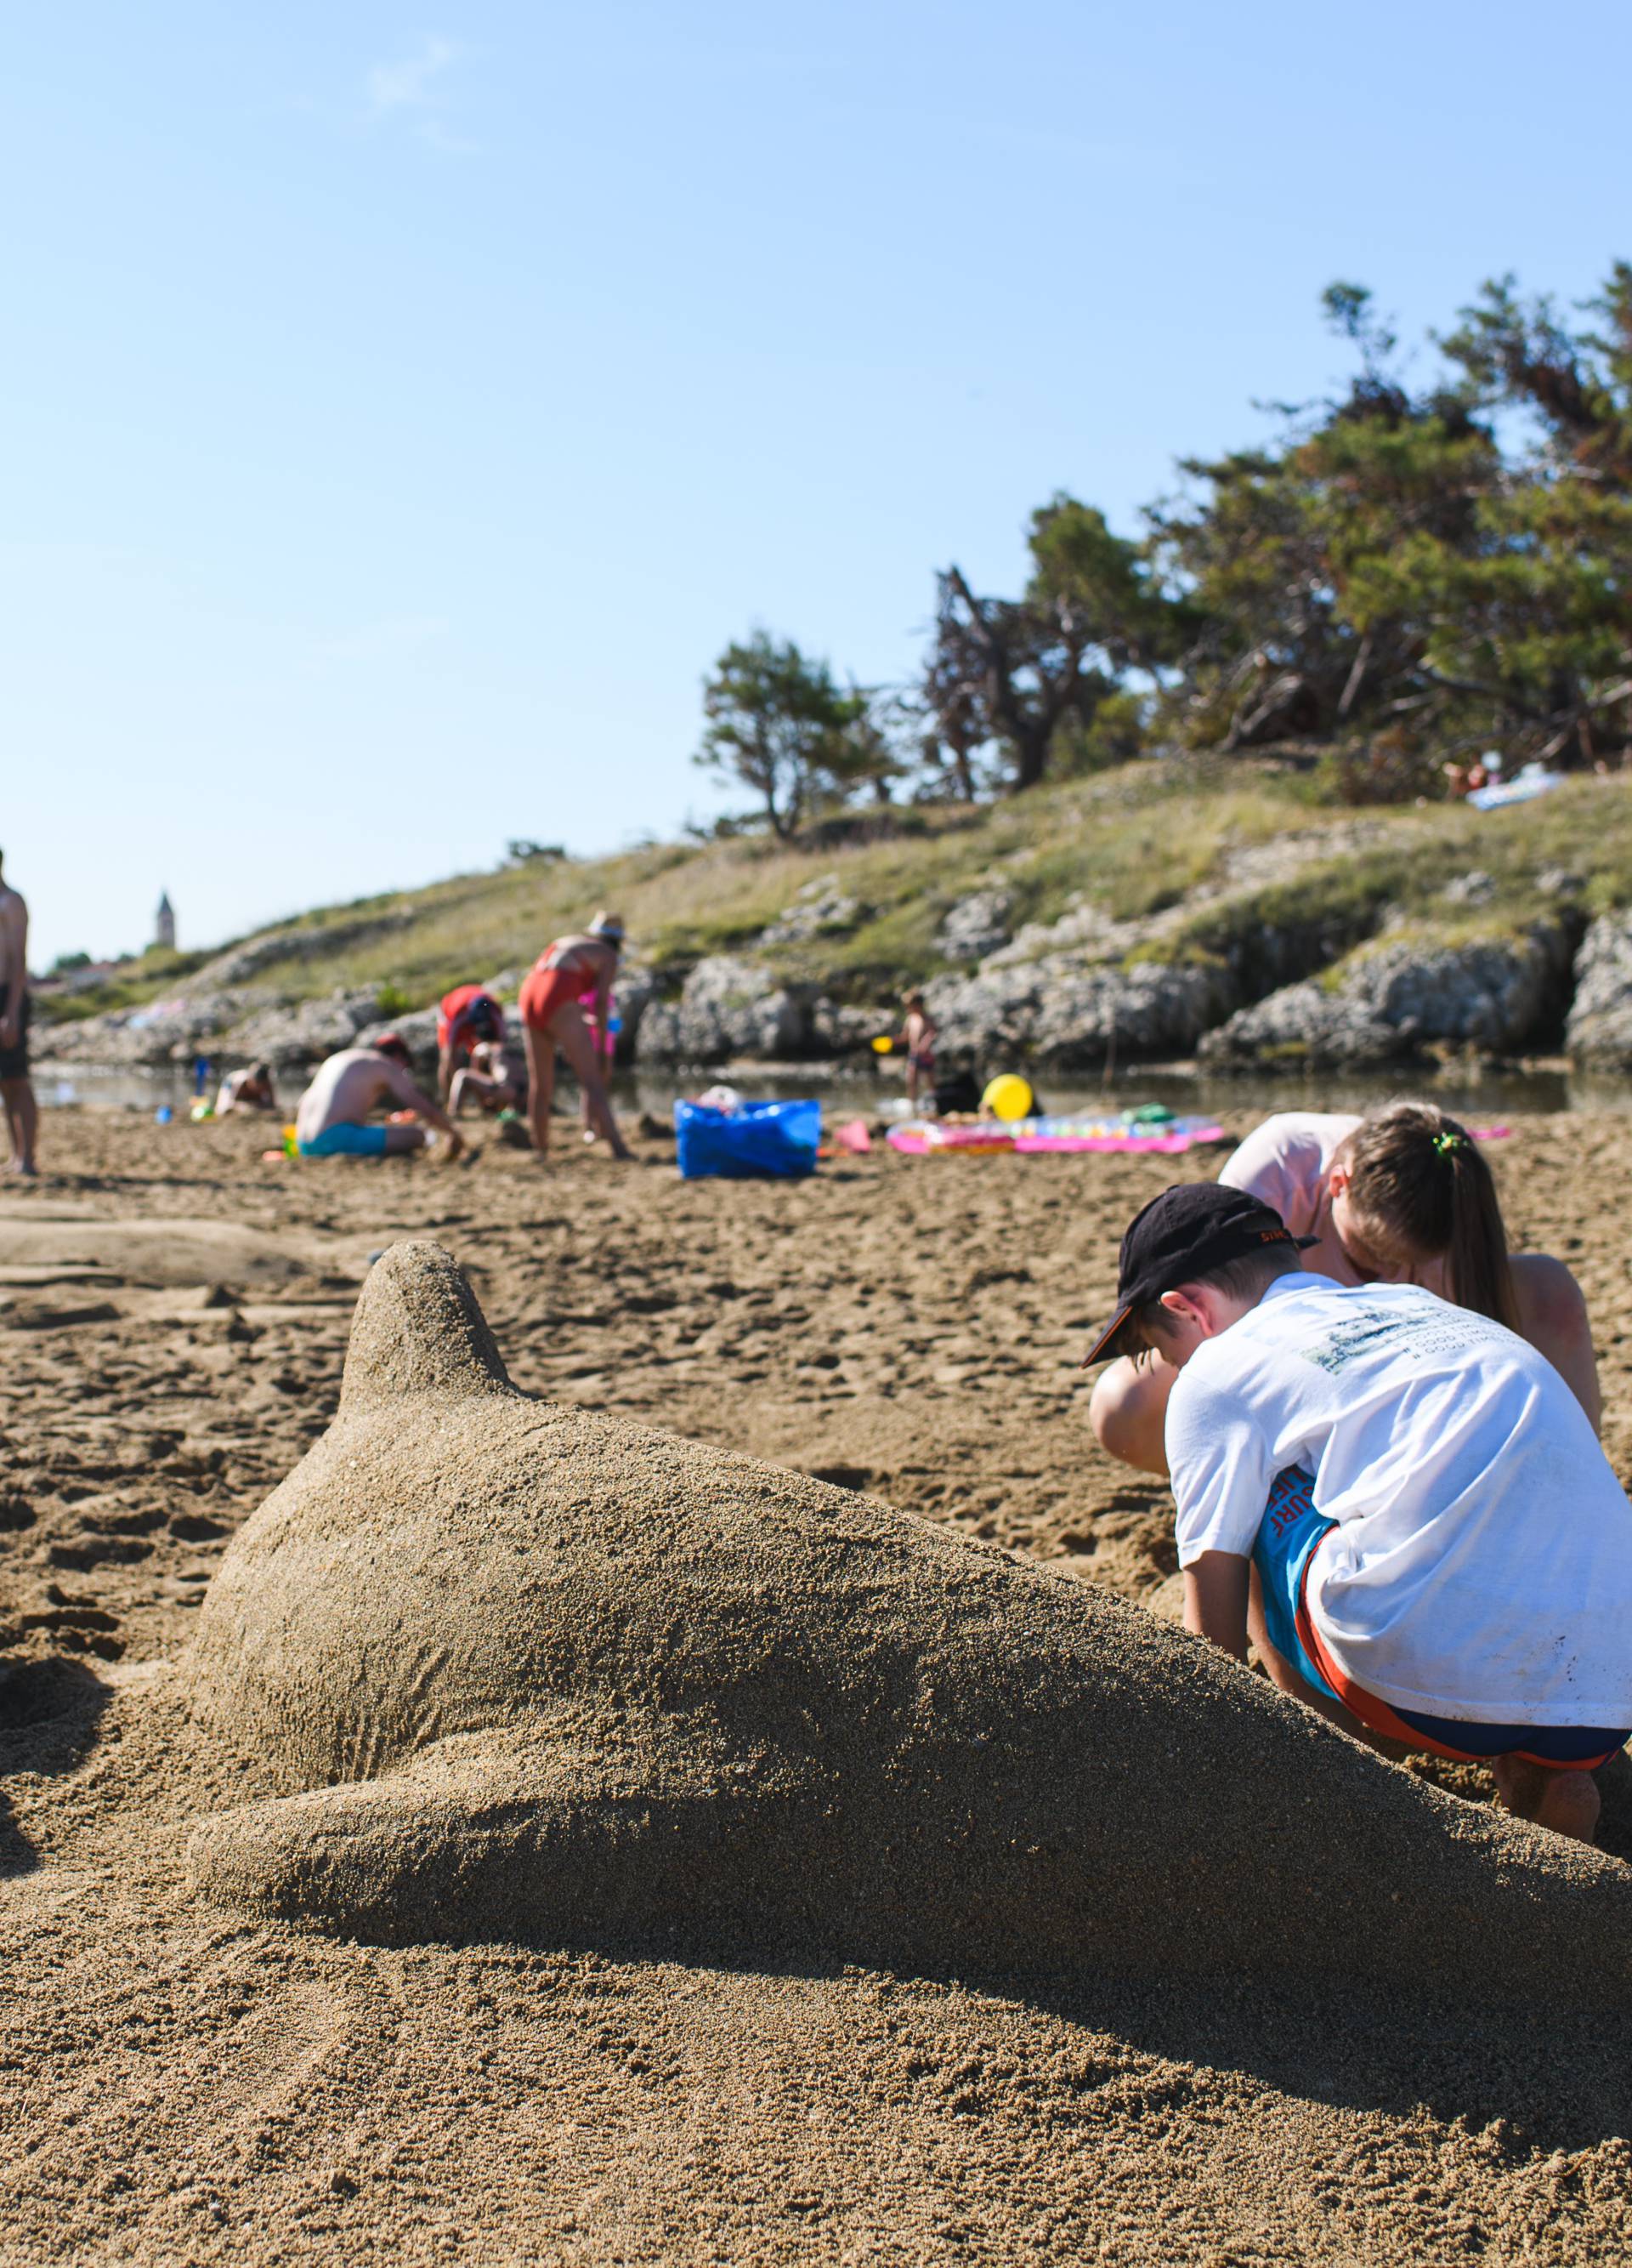
[[[1335,982],[1287,984],[1208,1032],[1210,1064],[1387,1064],[1426,1046],[1510,1055],[1564,1009],[1569,939],[1555,923],[1469,946],[1380,943]]]

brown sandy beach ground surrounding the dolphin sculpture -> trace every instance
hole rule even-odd
[[[1605,1225],[1632,1118],[1512,1127],[1510,1229],[1587,1290],[1627,1481],[1632,1293]],[[492,1141],[453,1170],[263,1161],[265,1143],[52,1111],[43,1179],[0,1195],[0,2259],[1627,2250],[1623,2019],[1501,1978],[1476,2009],[1430,1973],[1410,2000],[1036,1994],[385,1950],[202,1903],[190,1821],[272,1780],[195,1721],[190,1628],[236,1526],[333,1415],[372,1254],[437,1238],[530,1395],[1172,1615],[1172,1501],[1097,1452],[1077,1361],[1131,1211],[1217,1163],[875,1150],[805,1184],[682,1184],[669,1143],[619,1168],[564,1123],[549,1170]]]

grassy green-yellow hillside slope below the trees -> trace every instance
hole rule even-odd
[[[628,921],[630,957],[675,982],[707,953],[755,946],[789,975],[875,1000],[947,966],[941,921],[986,887],[1011,896],[1011,928],[1079,905],[1115,921],[1172,909],[1138,953],[1174,959],[1229,950],[1263,921],[1317,919],[1360,934],[1385,909],[1423,939],[1501,934],[1557,909],[1557,889],[1539,882],[1548,869],[1580,878],[1569,896],[1584,912],[1632,903],[1632,780],[1623,778],[1584,778],[1507,812],[1353,812],[1317,803],[1303,776],[1272,767],[1140,762],[995,807],[913,807],[877,826],[886,832],[875,839],[732,839],[530,862],[324,907],[261,932],[267,957],[254,982],[288,998],[383,984],[390,1009],[403,1012],[467,978],[526,968],[598,905]],[[1489,887],[1457,898],[1469,871]],[[855,900],[848,925],[759,948],[759,932],[816,885]],[[116,984],[77,993],[70,1014],[177,991],[204,962],[145,955]]]

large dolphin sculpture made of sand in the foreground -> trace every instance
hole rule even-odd
[[[220,1903],[351,1937],[1625,1998],[1632,1869],[1410,1778],[1108,1592],[505,1379],[431,1243],[199,1613],[290,1794]]]

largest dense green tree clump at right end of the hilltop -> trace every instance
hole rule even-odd
[[[1571,331],[1487,286],[1412,395],[1367,293],[1342,401],[1183,469],[1151,549],[1197,608],[1165,721],[1190,744],[1371,739],[1376,785],[1501,748],[1618,755],[1632,726],[1632,268]]]

